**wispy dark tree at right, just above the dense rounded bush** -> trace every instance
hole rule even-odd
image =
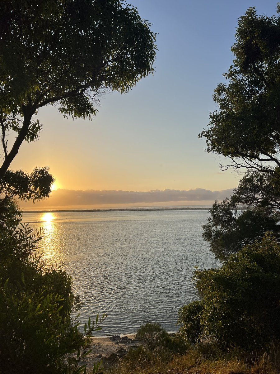
[[[280,239],[278,184],[272,174],[248,172],[230,199],[215,201],[207,224],[202,225],[202,236],[216,258],[225,261],[267,231]],[[240,211],[240,205],[246,209]]]

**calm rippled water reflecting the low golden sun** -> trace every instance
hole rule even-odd
[[[195,266],[218,262],[201,237],[208,211],[25,213],[43,227],[41,249],[65,261],[84,306],[80,322],[108,318],[99,335],[135,332],[156,321],[175,331],[178,309],[197,298]],[[45,221],[45,222],[44,222]]]

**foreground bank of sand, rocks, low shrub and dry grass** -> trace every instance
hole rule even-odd
[[[140,329],[149,325],[157,324],[142,325]],[[276,374],[280,369],[277,344],[268,352],[225,352],[209,339],[186,344],[180,334],[167,334],[162,329],[157,336],[145,331],[92,337],[88,348],[92,351],[80,362],[87,365],[86,373],[93,373],[94,365],[100,365],[100,374]]]

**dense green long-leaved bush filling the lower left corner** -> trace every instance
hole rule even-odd
[[[71,276],[63,264],[47,264],[38,252],[43,233],[24,224],[16,228],[20,217],[12,208],[0,230],[0,372],[78,373],[89,337],[105,316],[89,319],[84,334],[78,331]]]

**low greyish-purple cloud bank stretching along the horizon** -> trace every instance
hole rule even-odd
[[[115,190],[63,190],[53,191],[49,199],[35,203],[35,206],[73,206],[73,205],[109,205],[224,200],[233,193],[233,188],[222,191],[210,191],[204,188],[195,190],[152,190],[147,192]],[[22,205],[22,204],[20,204]],[[34,206],[27,202],[25,207]]]

